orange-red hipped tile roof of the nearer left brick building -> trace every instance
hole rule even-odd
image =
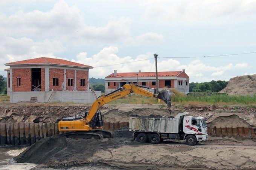
[[[93,68],[91,66],[75,63],[72,61],[62,60],[58,58],[48,58],[48,57],[40,57],[40,58],[33,58],[29,60],[16,61],[12,63],[6,63],[5,65],[13,66],[13,65],[28,65],[28,64],[53,64],[53,65],[62,65],[62,66],[77,66],[77,67]]]

